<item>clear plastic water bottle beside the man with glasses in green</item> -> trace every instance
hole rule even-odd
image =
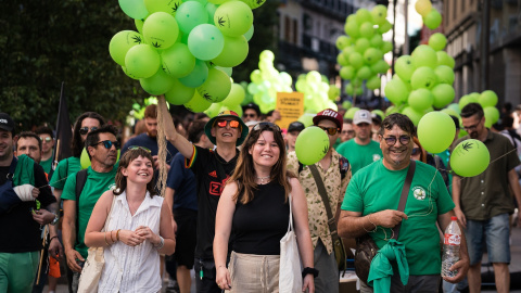
[[[448,270],[459,260],[459,245],[461,243],[461,230],[459,229],[458,218],[450,217],[450,225],[445,229],[445,240],[443,242],[442,256],[442,277],[455,277],[456,270]]]

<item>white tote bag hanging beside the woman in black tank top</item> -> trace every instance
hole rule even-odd
[[[290,222],[288,232],[280,240],[280,268],[279,268],[279,292],[297,293],[302,292],[301,257],[296,245],[296,235],[293,229],[293,213],[290,201]]]

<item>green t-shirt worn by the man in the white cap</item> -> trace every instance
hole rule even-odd
[[[373,140],[369,144],[360,145],[355,142],[355,139],[350,139],[340,144],[336,152],[350,161],[353,175],[372,162],[382,158],[380,144]]]

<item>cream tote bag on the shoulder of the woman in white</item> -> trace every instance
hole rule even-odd
[[[105,228],[109,227],[111,219],[112,208],[114,202],[116,201],[116,195],[112,200],[111,211],[106,216],[105,226],[101,229],[102,232],[105,231]],[[103,247],[89,247],[88,256],[85,262],[84,269],[79,276],[79,285],[78,293],[97,293],[98,284],[100,282],[101,272],[103,271],[103,266],[105,265],[105,257],[103,256]]]

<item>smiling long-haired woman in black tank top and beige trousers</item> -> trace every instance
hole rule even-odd
[[[285,165],[280,128],[271,123],[255,125],[244,141],[236,170],[217,207],[216,282],[227,292],[279,292],[280,240],[288,231],[289,200],[302,264],[313,268],[306,198]],[[227,267],[232,229],[233,251]],[[303,289],[315,292],[313,275],[305,276]]]

